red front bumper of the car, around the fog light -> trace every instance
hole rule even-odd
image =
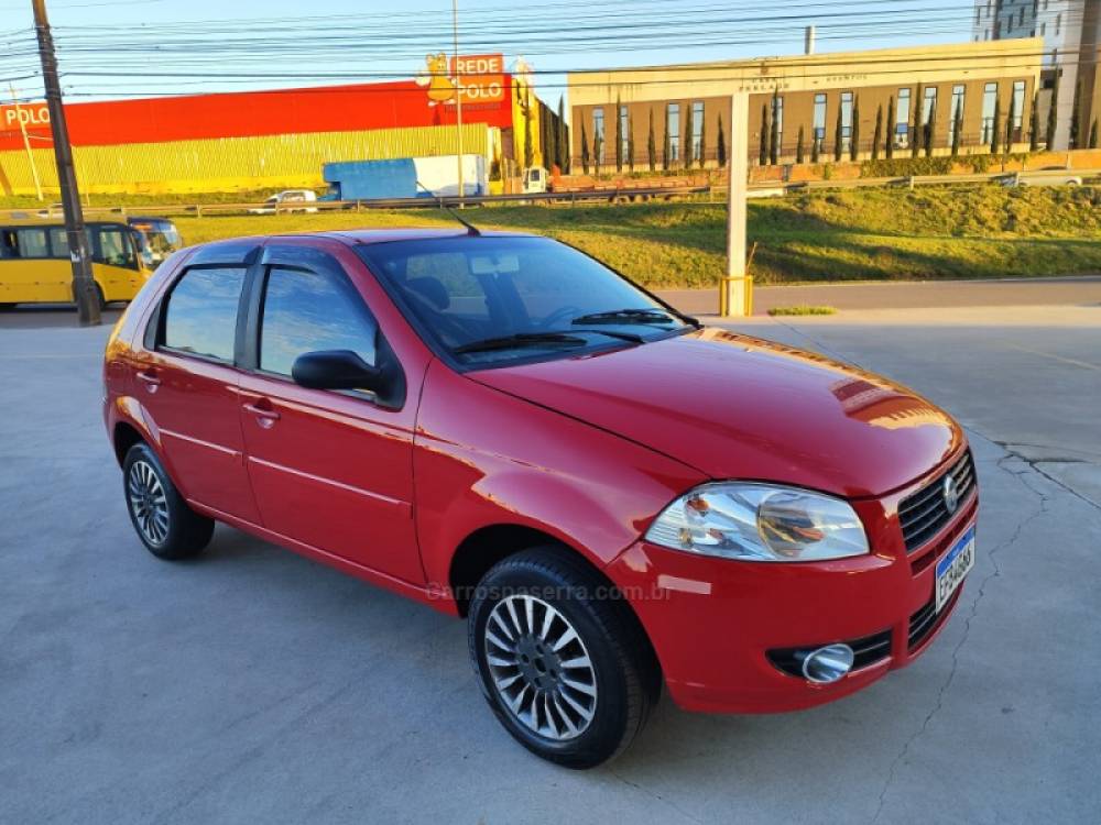
[[[897,506],[919,486],[852,502],[874,548],[870,556],[768,564],[640,541],[617,558],[607,573],[642,622],[673,700],[685,710],[711,713],[814,707],[854,693],[925,652],[962,592],[939,614],[931,612],[936,560],[974,522],[978,495],[972,493],[937,536],[907,554]],[[832,684],[789,675],[767,654],[883,634],[890,646]]]

